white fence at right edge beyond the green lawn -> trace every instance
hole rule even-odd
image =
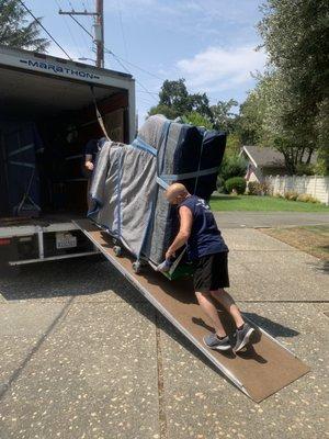
[[[293,191],[297,193],[308,193],[321,203],[329,204],[329,177],[319,176],[270,176],[266,177],[273,194],[283,195]]]

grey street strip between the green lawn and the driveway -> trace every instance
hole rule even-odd
[[[314,224],[329,225],[329,207],[326,212],[215,212],[222,228],[260,228],[307,226]]]

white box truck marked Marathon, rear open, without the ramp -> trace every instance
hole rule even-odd
[[[0,46],[0,262],[93,254],[72,219],[87,213],[84,147],[135,137],[131,75]]]

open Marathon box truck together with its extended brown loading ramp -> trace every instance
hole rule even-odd
[[[0,262],[10,266],[102,254],[230,382],[261,402],[309,371],[257,329],[241,354],[208,349],[191,280],[169,281],[149,267],[136,273],[132,255],[89,219],[84,145],[135,137],[135,87],[129,75],[0,46]],[[226,313],[219,317],[228,330]],[[246,319],[247,316],[245,316]]]

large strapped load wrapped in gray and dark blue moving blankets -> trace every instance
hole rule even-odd
[[[178,230],[175,207],[163,196],[170,182],[208,199],[216,188],[224,133],[150,116],[132,145],[105,142],[91,184],[89,217],[137,259],[158,264]]]

